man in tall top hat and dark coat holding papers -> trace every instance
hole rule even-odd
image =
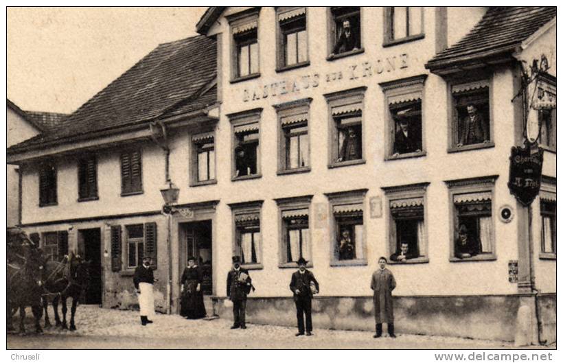
[[[240,267],[240,256],[233,256],[233,268],[227,274],[227,297],[233,302],[233,326],[246,329],[246,295],[252,288],[248,270]]]

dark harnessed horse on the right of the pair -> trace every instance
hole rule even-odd
[[[55,325],[62,329],[76,330],[74,316],[76,305],[80,296],[86,290],[90,274],[89,262],[84,261],[79,255],[65,256],[62,262],[47,261],[45,264],[45,295],[55,294],[53,298],[53,310],[55,314]],[[67,298],[72,298],[70,326],[67,326]],[[62,321],[58,315],[58,303],[62,303]],[[45,327],[51,327],[47,307],[49,301],[43,296],[43,309],[45,311]]]

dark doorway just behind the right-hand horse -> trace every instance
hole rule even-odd
[[[84,246],[84,259],[90,261],[90,281],[84,303],[102,304],[102,245],[100,229],[82,229],[79,231]]]

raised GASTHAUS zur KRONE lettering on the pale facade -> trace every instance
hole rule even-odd
[[[343,80],[360,80],[372,77],[373,75],[380,75],[384,72],[391,73],[408,67],[408,54],[380,58],[375,61],[350,65],[346,69],[340,71],[328,72],[325,74],[312,73],[300,75],[292,80],[279,80],[268,84],[256,84],[244,89],[242,101],[251,102],[268,97],[278,97],[286,94],[299,94],[301,92],[306,92],[309,89],[317,88],[321,82],[334,83],[342,82]]]

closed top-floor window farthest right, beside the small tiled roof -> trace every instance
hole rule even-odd
[[[420,6],[386,8],[384,45],[423,38],[422,9]]]

